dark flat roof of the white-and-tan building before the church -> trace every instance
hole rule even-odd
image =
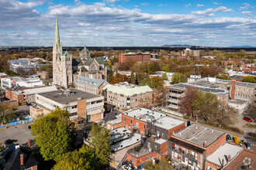
[[[68,89],[68,91],[56,90],[47,93],[40,93],[40,95],[50,100],[54,100],[60,104],[67,104],[78,100],[88,100],[95,97],[102,97],[93,93],[87,93],[85,91],[77,89]]]

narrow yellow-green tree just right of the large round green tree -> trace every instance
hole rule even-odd
[[[111,148],[109,139],[111,135],[109,130],[97,125],[92,124],[92,131],[90,131],[89,136],[92,138],[90,147],[95,153],[96,157],[99,158],[99,162],[102,166],[109,164],[109,155],[111,154]]]

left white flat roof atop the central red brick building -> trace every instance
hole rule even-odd
[[[123,115],[139,119],[140,121],[152,121],[152,120],[158,120],[161,117],[166,117],[166,114],[162,114],[158,111],[149,110],[146,108],[130,110],[123,113]]]

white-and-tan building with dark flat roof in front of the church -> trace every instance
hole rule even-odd
[[[77,89],[56,90],[47,93],[36,93],[36,105],[29,107],[30,116],[36,118],[40,114],[48,114],[57,107],[68,110],[70,119],[78,117],[86,121],[102,121],[103,97]]]

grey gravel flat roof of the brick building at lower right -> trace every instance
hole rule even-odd
[[[192,124],[191,126],[179,131],[174,136],[181,138],[185,141],[190,141],[195,145],[203,147],[203,143],[206,142],[206,147],[220,138],[225,132],[218,131],[213,128],[207,128],[199,124]]]

